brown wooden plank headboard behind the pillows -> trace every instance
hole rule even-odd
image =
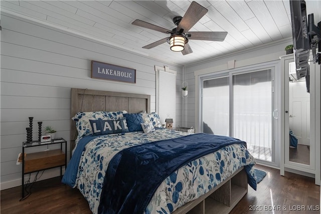
[[[89,89],[71,89],[71,114],[85,111],[121,111],[138,113],[150,112],[150,95],[131,94],[112,91],[98,91]],[[70,152],[74,148],[77,138],[76,124],[70,123]]]

